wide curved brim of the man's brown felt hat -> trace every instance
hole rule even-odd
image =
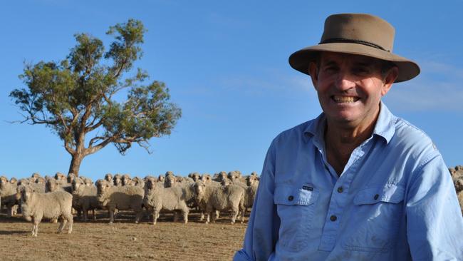
[[[396,54],[390,53],[388,51],[383,51],[379,48],[353,43],[331,43],[308,46],[291,54],[291,56],[289,56],[289,64],[297,71],[309,75],[308,66],[311,61],[315,61],[317,53],[320,53],[321,51],[370,56],[380,60],[395,63],[397,68],[399,68],[399,75],[397,76],[395,83],[408,81],[420,74],[420,66],[418,66],[418,64],[414,61],[411,61],[402,56],[397,56]]]

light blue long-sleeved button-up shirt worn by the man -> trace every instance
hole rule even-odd
[[[234,260],[463,260],[463,218],[432,140],[380,104],[373,134],[338,176],[326,117],[269,148]]]

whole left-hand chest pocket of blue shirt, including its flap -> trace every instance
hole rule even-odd
[[[281,220],[279,246],[287,251],[306,247],[318,190],[310,185],[277,185],[274,203]]]

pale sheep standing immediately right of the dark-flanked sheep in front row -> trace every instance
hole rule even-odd
[[[156,225],[161,210],[174,211],[174,222],[177,222],[175,210],[180,210],[186,224],[189,213],[186,200],[184,191],[180,187],[164,188],[153,179],[148,179],[145,183],[143,205],[152,212],[153,225]]]

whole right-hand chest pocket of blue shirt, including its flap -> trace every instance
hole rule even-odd
[[[387,252],[393,246],[403,217],[405,188],[387,185],[360,190],[348,225],[353,227],[345,240],[346,250]]]

